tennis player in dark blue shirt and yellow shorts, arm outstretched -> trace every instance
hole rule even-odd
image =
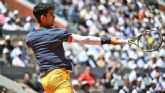
[[[100,38],[71,34],[65,29],[52,27],[55,16],[54,7],[39,3],[33,9],[39,28],[27,35],[26,44],[32,48],[40,65],[41,83],[46,93],[73,93],[70,83],[72,64],[64,57],[63,42],[81,44],[123,44],[126,40],[118,38]]]

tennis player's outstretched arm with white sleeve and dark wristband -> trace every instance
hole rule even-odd
[[[82,36],[78,34],[72,34],[68,37],[67,42],[74,42],[80,44],[89,44],[89,45],[102,45],[102,44],[126,44],[128,40],[120,38],[108,38],[108,37],[95,37],[95,36]]]

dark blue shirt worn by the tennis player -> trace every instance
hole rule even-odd
[[[41,75],[56,68],[72,70],[72,63],[64,55],[63,42],[70,33],[59,28],[33,29],[27,34],[26,44],[32,48],[40,65]]]

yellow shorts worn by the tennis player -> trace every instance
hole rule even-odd
[[[46,93],[73,93],[70,72],[64,68],[54,69],[41,77]]]

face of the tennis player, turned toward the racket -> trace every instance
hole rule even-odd
[[[53,23],[54,23],[54,19],[55,19],[53,10],[49,10],[45,17],[46,17],[46,24],[47,24],[47,26],[52,26]]]

